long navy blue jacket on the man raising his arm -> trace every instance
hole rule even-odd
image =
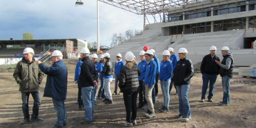
[[[65,100],[67,98],[68,69],[63,60],[54,62],[51,67],[40,63],[39,68],[47,74],[44,97]]]

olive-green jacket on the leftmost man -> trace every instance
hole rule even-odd
[[[23,58],[17,63],[13,77],[19,84],[20,92],[35,92],[39,90],[44,74],[39,70],[34,58],[31,63]]]

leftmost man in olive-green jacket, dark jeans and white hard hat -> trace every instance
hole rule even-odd
[[[39,107],[41,104],[41,95],[39,85],[41,84],[44,74],[39,70],[34,59],[34,50],[32,48],[24,49],[25,57],[20,60],[15,68],[13,77],[19,84],[19,91],[22,93],[22,110],[24,119],[20,124],[30,122],[29,116],[29,95],[34,99],[33,111],[31,115],[32,121],[44,121],[38,117]]]

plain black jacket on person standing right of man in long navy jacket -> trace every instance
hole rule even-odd
[[[77,81],[78,86],[94,86],[94,80],[96,80],[95,65],[89,57],[84,57],[82,58],[81,73]]]

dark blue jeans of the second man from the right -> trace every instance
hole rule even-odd
[[[214,86],[215,82],[217,79],[218,74],[206,74],[204,73],[202,78],[203,78],[203,86],[202,86],[202,96],[201,99],[205,99],[205,94],[208,88],[208,83],[209,84],[209,94],[208,94],[208,99],[211,99],[212,96],[214,96]]]

